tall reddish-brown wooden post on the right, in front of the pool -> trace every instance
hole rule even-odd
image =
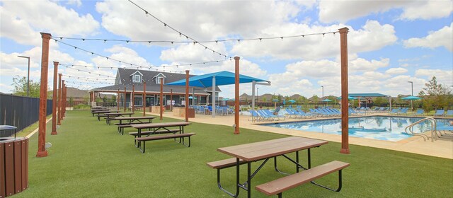
[[[348,106],[348,28],[340,31],[340,59],[341,59],[341,150],[340,153],[349,154],[349,106]]]

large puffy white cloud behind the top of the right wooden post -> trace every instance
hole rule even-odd
[[[278,37],[281,35],[301,35],[308,33],[326,33],[338,31],[345,25],[305,25],[285,23],[270,26],[261,30],[262,37]],[[396,42],[394,27],[381,25],[377,21],[367,21],[360,30],[348,27],[349,53],[368,52],[379,50],[386,45]],[[340,35],[310,35],[306,37],[285,38],[283,40],[263,40],[252,42],[235,42],[231,52],[248,57],[275,57],[277,59],[305,59],[316,60],[336,57],[340,54]]]

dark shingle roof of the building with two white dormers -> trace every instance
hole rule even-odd
[[[115,85],[113,86],[105,86],[101,88],[93,88],[91,91],[117,91],[120,89],[124,91],[126,88],[127,92],[132,91],[132,85],[134,85],[134,91],[143,92],[143,83],[134,83],[132,82],[131,75],[135,72],[139,71],[142,76],[142,81],[147,83],[147,93],[154,92],[159,93],[161,90],[160,84],[156,83],[156,79],[154,76],[159,74],[164,74],[165,81],[164,83],[171,83],[173,81],[179,81],[180,79],[185,79],[185,74],[175,74],[175,73],[168,73],[168,72],[161,72],[161,71],[147,71],[147,70],[139,70],[139,69],[118,69],[117,71],[117,79],[115,80]],[[195,76],[195,75],[189,75]],[[192,93],[192,88],[189,88],[189,93]],[[163,91],[164,93],[170,93],[171,89],[173,89],[173,93],[185,93],[185,86],[166,86],[164,84]],[[212,88],[198,88],[195,87],[195,94],[208,94],[205,92],[211,91]],[[220,91],[219,87],[216,87],[216,91]]]

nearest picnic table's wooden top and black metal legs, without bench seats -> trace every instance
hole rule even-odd
[[[282,173],[277,169],[277,156],[283,156],[289,161],[296,165],[296,172],[299,172],[299,168],[304,168],[299,163],[299,151],[307,150],[308,152],[308,168],[311,168],[311,155],[310,148],[319,147],[323,144],[327,144],[328,141],[319,139],[309,139],[298,136],[290,136],[281,139],[273,139],[269,141],[260,141],[251,144],[241,144],[236,146],[229,146],[223,148],[217,148],[217,151],[225,153],[229,156],[236,158],[236,197],[239,195],[239,188],[247,191],[247,196],[251,197],[251,179],[258,173],[260,168],[270,159],[274,158],[275,170]],[[296,159],[289,158],[287,153],[296,153]],[[251,173],[251,163],[255,161],[264,160],[257,170]],[[241,183],[239,180],[239,165],[245,161],[247,163],[247,181]],[[306,168],[304,168],[306,169]],[[220,187],[220,184],[219,184]],[[224,192],[233,196],[231,192],[228,192],[221,188]]]

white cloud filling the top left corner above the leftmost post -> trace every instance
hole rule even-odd
[[[40,34],[91,35],[99,23],[91,14],[79,15],[73,9],[52,1],[2,1],[1,37],[8,37],[23,45],[40,45]]]

